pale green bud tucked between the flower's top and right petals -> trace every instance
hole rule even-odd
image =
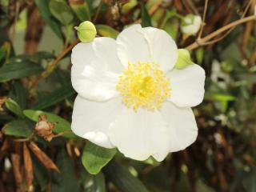
[[[194,62],[191,61],[190,52],[186,49],[178,49],[178,60],[174,67],[181,70],[192,64],[194,64]]]

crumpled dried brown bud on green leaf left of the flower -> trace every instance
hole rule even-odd
[[[48,122],[46,115],[40,115],[38,118],[38,123],[34,128],[37,134],[44,138],[47,142],[50,142],[54,138],[54,134],[52,133],[53,129],[54,123]]]

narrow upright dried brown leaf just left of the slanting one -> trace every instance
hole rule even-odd
[[[30,156],[30,151],[28,150],[25,142],[23,143],[23,160],[24,160],[24,166],[25,166],[27,191],[32,192],[33,179],[34,179],[33,165],[32,165],[32,160]]]

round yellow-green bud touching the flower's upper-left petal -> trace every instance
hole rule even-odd
[[[80,23],[74,29],[78,30],[78,38],[81,42],[92,42],[97,34],[94,24],[89,21]]]

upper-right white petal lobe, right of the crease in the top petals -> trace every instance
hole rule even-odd
[[[150,53],[154,62],[157,62],[162,70],[171,70],[178,59],[178,48],[174,39],[164,30],[154,27],[142,29],[150,46]]]

